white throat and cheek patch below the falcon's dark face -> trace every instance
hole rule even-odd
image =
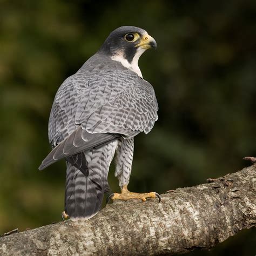
[[[137,73],[139,77],[143,78],[142,71],[140,71],[138,66],[138,60],[145,50],[146,49],[139,48],[135,53],[131,63],[129,63],[127,59],[124,58],[124,54],[122,52],[117,52],[115,55],[111,56],[111,59],[122,63],[125,68],[132,70],[133,72]]]

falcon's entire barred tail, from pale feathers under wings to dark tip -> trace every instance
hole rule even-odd
[[[72,220],[89,219],[101,208],[109,166],[117,140],[69,157],[66,167],[65,212]]]

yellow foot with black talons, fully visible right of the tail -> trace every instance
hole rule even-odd
[[[109,197],[107,197],[107,202],[109,201],[109,199],[111,198],[112,200],[116,200],[116,199],[120,199],[120,200],[124,200],[127,201],[129,199],[139,199],[142,201],[146,201],[147,198],[156,198],[158,197],[159,199],[159,203],[161,201],[161,197],[159,196],[158,193],[156,192],[150,192],[150,193],[134,193],[134,192],[130,192],[127,189],[127,185],[125,185],[122,188],[121,193],[113,193],[111,194]]]

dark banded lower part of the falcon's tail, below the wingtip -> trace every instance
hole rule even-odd
[[[104,196],[101,178],[89,170],[85,176],[77,167],[67,162],[65,187],[65,212],[72,220],[90,219],[101,208]]]

